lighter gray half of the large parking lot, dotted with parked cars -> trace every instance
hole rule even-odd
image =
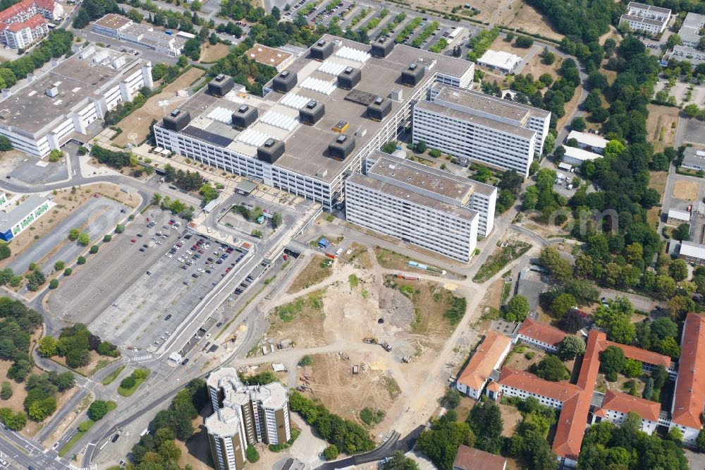
[[[180,229],[162,227],[151,239],[130,239],[135,240],[133,250],[161,256],[90,323],[92,332],[125,349],[157,351],[247,252],[190,234],[177,238],[172,232]]]

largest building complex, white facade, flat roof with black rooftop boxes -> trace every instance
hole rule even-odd
[[[472,62],[403,45],[386,56],[371,49],[325,35],[265,85],[264,97],[240,85],[222,96],[200,90],[179,108],[190,118],[183,128],[164,119],[154,126],[157,145],[330,208],[344,179],[396,138],[435,83],[472,84]],[[408,80],[412,66],[423,73]],[[243,105],[257,111],[254,122],[235,122]],[[274,154],[262,151],[268,142]]]

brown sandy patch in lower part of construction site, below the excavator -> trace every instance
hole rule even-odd
[[[383,354],[381,351],[379,354]],[[305,392],[315,397],[335,414],[353,421],[360,421],[360,411],[369,406],[387,411],[398,396],[398,385],[379,368],[379,354],[350,352],[350,360],[336,353],[315,354],[313,376],[309,382],[314,391]],[[360,366],[360,373],[353,375],[353,364]],[[386,416],[384,421],[394,418]],[[384,421],[378,428],[384,428]]]

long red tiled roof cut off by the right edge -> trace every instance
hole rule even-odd
[[[698,369],[705,363],[705,318],[688,313],[683,325],[683,341],[675,382],[671,421],[686,428],[700,429],[705,406],[705,375]]]

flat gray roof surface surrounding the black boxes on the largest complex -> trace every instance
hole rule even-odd
[[[297,74],[297,85],[293,90],[286,95],[278,92],[270,92],[266,97],[252,97],[241,92],[231,92],[223,98],[215,98],[205,94],[205,88],[196,93],[196,95],[187,102],[179,106],[183,111],[188,111],[191,114],[191,124],[194,127],[202,128],[205,131],[220,135],[227,140],[232,140],[231,143],[221,145],[228,147],[243,155],[256,158],[257,147],[246,145],[239,140],[242,137],[240,131],[235,130],[229,123],[214,121],[208,119],[214,109],[221,107],[231,112],[237,111],[240,104],[250,104],[259,109],[259,119],[252,124],[247,131],[258,131],[277,140],[284,142],[284,155],[279,158],[274,167],[288,169],[300,174],[312,176],[321,181],[332,181],[340,174],[348,162],[341,162],[329,157],[328,145],[333,142],[338,135],[337,131],[333,131],[338,121],[347,121],[349,123],[348,130],[345,135],[353,136],[356,131],[364,129],[365,135],[354,135],[355,150],[352,155],[355,155],[361,147],[367,144],[370,138],[375,135],[379,128],[384,124],[382,122],[372,121],[367,118],[367,107],[364,104],[345,100],[350,90],[342,88],[334,88],[329,95],[323,92],[317,92],[311,89],[303,88],[301,85],[304,80],[312,81],[319,80],[319,83],[336,84],[336,74],[324,73],[319,70],[321,66],[327,65],[331,67],[352,66],[360,68],[362,79],[355,86],[355,90],[367,92],[371,95],[381,96],[389,100],[389,95],[392,90],[402,89],[403,98],[400,101],[391,100],[392,109],[389,116],[395,114],[398,109],[410,101],[410,96],[413,90],[419,86],[427,84],[432,80],[432,76],[436,71],[440,71],[449,76],[457,76],[460,78],[469,68],[472,63],[463,59],[442,56],[413,47],[396,45],[391,54],[385,59],[376,59],[369,57],[364,62],[355,59],[355,54],[337,55],[343,48],[356,49],[359,54],[357,57],[364,56],[372,49],[367,44],[361,44],[350,40],[345,40],[331,35],[324,35],[323,39],[335,44],[336,52],[326,59],[323,63],[314,61],[309,54],[302,54],[295,59],[292,64],[287,67],[287,71]],[[431,67],[430,71],[424,75],[421,83],[415,88],[407,88],[401,83],[401,73],[412,63],[426,63]],[[324,67],[326,68],[326,67]],[[271,82],[265,85],[265,88],[271,88]],[[296,125],[291,130],[277,128],[268,123],[262,122],[262,116],[266,112],[274,112],[283,116],[288,116],[292,119],[298,119],[298,109],[293,109],[285,104],[282,104],[284,97],[300,97],[305,100],[316,100],[324,104],[326,112],[324,116],[314,126],[306,126],[301,123]],[[224,114],[223,114],[224,115]],[[389,116],[386,119],[389,119]],[[182,131],[183,132],[183,131]],[[348,157],[350,158],[350,157]]]

